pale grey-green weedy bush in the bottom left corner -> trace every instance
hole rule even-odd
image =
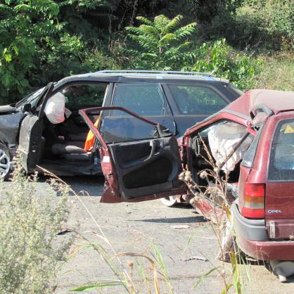
[[[18,162],[13,188],[1,186],[6,200],[0,205],[0,293],[52,293],[56,266],[71,242],[56,242],[68,217],[66,198],[52,205],[49,196],[38,195],[36,181],[23,175]],[[61,188],[61,196],[67,195]]]

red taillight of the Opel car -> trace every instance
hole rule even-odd
[[[264,184],[246,183],[244,188],[244,205],[241,210],[243,217],[250,219],[264,218]]]

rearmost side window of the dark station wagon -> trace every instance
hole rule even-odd
[[[211,115],[229,102],[209,87],[191,84],[169,84],[181,115]]]

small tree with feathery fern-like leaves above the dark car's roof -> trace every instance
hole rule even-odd
[[[152,70],[175,70],[189,58],[191,35],[196,32],[196,23],[180,26],[181,15],[170,20],[158,15],[153,21],[142,16],[136,18],[139,27],[126,27],[134,49],[125,52],[134,58],[134,67]]]

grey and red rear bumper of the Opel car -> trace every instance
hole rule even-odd
[[[270,241],[264,219],[246,219],[236,203],[231,211],[236,241],[244,253],[257,260],[294,260],[294,241]]]

